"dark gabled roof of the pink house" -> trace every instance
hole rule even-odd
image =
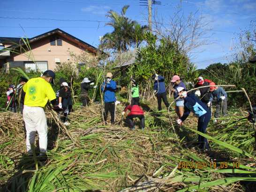
[[[28,38],[28,41],[29,43],[32,43],[32,42],[35,42],[35,41],[38,41],[42,38],[45,38],[45,37],[48,37],[48,36],[51,36],[51,35],[54,35],[54,34],[58,34],[60,35],[61,37],[65,37],[67,38],[68,40],[70,40],[71,42],[74,42],[75,44],[79,44],[80,46],[84,47],[85,49],[89,50],[90,52],[93,52],[93,53],[97,53],[97,52],[100,52],[100,53],[104,53],[105,52],[102,52],[101,50],[99,50],[98,48],[82,41],[81,39],[78,39],[70,34],[68,34],[67,32],[63,31],[63,30],[60,30],[59,28],[55,29],[55,30],[51,30],[51,31],[48,31],[46,33],[43,33],[41,35],[38,35],[36,37],[32,37],[32,38]],[[14,43],[20,43],[20,39],[21,38],[15,38],[15,37],[0,37],[0,40],[5,40],[5,41],[8,41],[8,42],[14,42]],[[14,41],[11,41],[11,40],[14,40]],[[19,47],[20,45],[12,45],[8,48],[10,49],[15,49],[17,47]],[[6,51],[6,50],[0,50],[1,51]]]

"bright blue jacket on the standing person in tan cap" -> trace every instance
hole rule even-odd
[[[106,84],[106,86],[105,86]],[[111,80],[109,84],[103,82],[101,85],[101,91],[104,92],[104,102],[115,102],[115,89],[116,89],[116,82]]]

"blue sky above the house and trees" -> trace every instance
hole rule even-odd
[[[185,15],[198,11],[209,22],[207,28],[212,30],[206,35],[211,44],[190,54],[198,68],[232,60],[239,33],[256,20],[256,0],[159,1],[162,4],[153,6],[153,13],[165,23],[179,5]],[[147,24],[147,7],[140,6],[139,0],[0,0],[0,37],[34,37],[60,28],[98,46],[99,36],[112,31],[105,26],[106,12],[110,9],[120,12],[124,5],[130,5],[126,14],[129,18]]]

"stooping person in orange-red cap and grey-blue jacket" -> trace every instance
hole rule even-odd
[[[216,111],[214,113],[215,118],[219,118],[221,112],[223,112],[223,116],[227,115],[227,94],[226,91],[222,87],[215,87],[216,85],[214,82],[211,82],[210,85],[210,101],[207,103],[208,107],[211,106],[211,102],[214,98],[217,99],[216,104]],[[214,119],[214,123],[217,123],[217,119]]]

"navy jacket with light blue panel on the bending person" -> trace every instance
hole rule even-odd
[[[211,112],[207,106],[200,99],[198,99],[194,93],[189,94],[186,98],[184,98],[184,108],[185,111],[181,117],[181,121],[185,121],[191,111],[199,118],[203,115],[211,116]]]

